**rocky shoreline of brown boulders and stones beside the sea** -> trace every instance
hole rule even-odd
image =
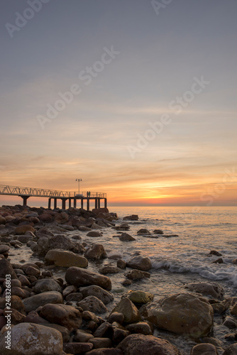
[[[137,280],[150,278],[147,256],[134,255],[127,262],[118,257],[116,265],[92,270],[92,263],[107,258],[106,248],[86,243],[80,231],[96,240],[103,229],[111,228],[117,233],[114,237],[133,242],[126,232],[129,221],[138,216],[125,217],[122,224],[116,224],[117,219],[104,208],[88,212],[0,207],[1,354],[237,354],[237,297],[224,298],[219,284],[189,283],[178,294],[154,300],[153,293],[139,287],[129,290]],[[70,231],[78,234],[69,238]],[[35,263],[9,261],[12,249],[26,248]],[[57,268],[63,270],[63,278],[57,276]],[[114,302],[109,277],[116,273],[125,275],[122,284],[128,289],[119,302]],[[228,344],[215,337],[215,324],[220,322],[229,329]],[[157,336],[159,330],[165,337]],[[172,334],[192,342],[189,353],[172,344]]]

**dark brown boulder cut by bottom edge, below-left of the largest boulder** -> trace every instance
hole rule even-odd
[[[153,335],[131,334],[118,344],[123,355],[180,355],[180,351],[165,339]]]

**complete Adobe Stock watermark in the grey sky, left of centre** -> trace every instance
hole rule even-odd
[[[78,78],[82,80],[84,85],[89,85],[92,83],[92,80],[99,75],[100,72],[103,72],[106,65],[111,64],[117,55],[121,52],[114,50],[114,45],[111,45],[111,48],[104,47],[104,53],[101,55],[100,60],[94,62],[92,67],[86,67],[85,70],[79,72]],[[47,111],[45,116],[38,115],[36,119],[40,124],[41,129],[45,129],[45,124],[52,122],[60,112],[62,112],[67,105],[72,104],[72,101],[75,97],[82,93],[82,87],[79,84],[72,84],[69,91],[58,92],[60,99],[57,99],[54,104],[48,103],[46,105]]]

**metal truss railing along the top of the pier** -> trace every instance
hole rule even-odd
[[[18,187],[9,185],[0,185],[0,195],[17,195],[33,197],[99,197],[106,198],[104,192],[70,192],[60,190],[38,189],[35,187]]]

